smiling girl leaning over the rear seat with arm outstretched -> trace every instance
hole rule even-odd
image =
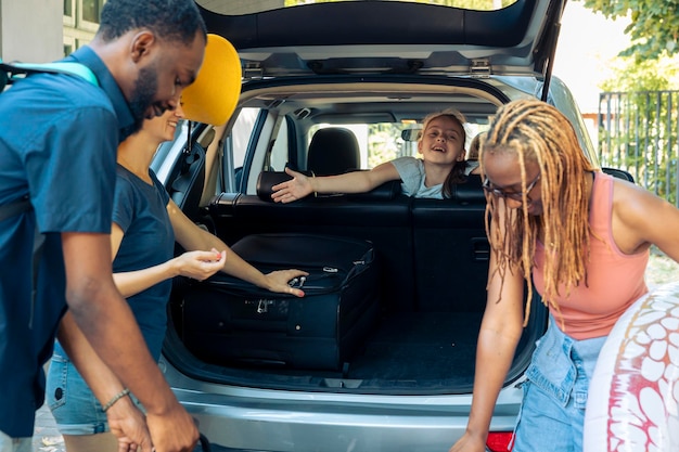
[[[400,157],[377,165],[370,171],[354,171],[338,176],[307,177],[285,168],[292,180],[273,185],[271,197],[277,203],[290,203],[310,193],[364,193],[392,181],[401,180],[408,196],[444,198],[450,196],[450,185],[464,182],[465,119],[461,113],[446,109],[424,118],[418,141],[422,159]]]

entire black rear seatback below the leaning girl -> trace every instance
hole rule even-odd
[[[481,311],[485,306],[488,243],[481,179],[450,199],[414,199],[398,181],[355,195],[307,197],[282,205],[270,188],[289,178],[262,172],[257,195],[220,195],[209,206],[227,243],[266,232],[346,235],[371,241],[390,311]]]

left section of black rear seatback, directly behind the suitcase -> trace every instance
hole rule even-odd
[[[280,173],[269,176],[281,177]],[[369,240],[376,249],[384,299],[389,300],[390,309],[413,310],[410,198],[400,194],[398,182],[360,195],[307,197],[285,205],[271,201],[271,184],[268,186],[266,192],[260,190],[257,196],[223,195],[213,202],[210,217],[215,221],[216,233],[225,242],[232,244],[245,235],[266,232]]]

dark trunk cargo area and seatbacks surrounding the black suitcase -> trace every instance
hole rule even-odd
[[[239,241],[253,234],[323,234],[370,243],[379,273],[374,283],[380,294],[377,313],[356,347],[343,354],[337,369],[297,365],[284,358],[223,358],[242,351],[219,353],[234,344],[232,313],[219,308],[221,302],[232,301],[222,293],[206,289],[207,282],[180,279],[169,305],[165,358],[194,378],[247,387],[387,395],[471,392],[476,340],[486,305],[488,245],[483,227],[485,198],[479,186],[470,185],[465,190],[478,191],[476,197],[460,188],[457,201],[402,195],[383,199],[380,190],[359,197],[311,198],[286,206],[255,195],[217,196],[202,222],[210,224],[241,256]],[[280,269],[305,269],[304,259],[287,258],[285,262]],[[257,298],[261,296],[254,299],[261,304],[262,299]],[[264,297],[267,302],[277,298]],[[507,384],[525,371],[535,340],[546,328],[546,308],[537,294],[535,297]],[[273,350],[281,340],[295,336],[296,332],[291,333],[290,327],[286,331],[285,325],[269,335],[266,315],[259,318],[255,313],[257,306],[243,300],[251,304],[246,321],[253,340],[238,343],[238,347],[248,348],[257,341],[260,351],[267,344]],[[295,302],[312,308],[320,301],[307,295]],[[337,311],[344,309],[342,302],[346,301],[340,302]],[[321,332],[316,339],[305,340],[325,340]],[[304,346],[300,341],[299,347]]]

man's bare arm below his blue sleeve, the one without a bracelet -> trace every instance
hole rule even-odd
[[[156,451],[192,451],[198,439],[193,419],[165,382],[113,282],[110,236],[62,233],[62,246],[66,300],[75,323],[102,361],[144,405]]]

